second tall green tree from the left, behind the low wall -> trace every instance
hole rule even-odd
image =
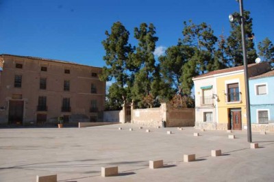
[[[151,83],[157,74],[155,69],[155,44],[158,37],[155,36],[156,31],[152,23],[147,25],[141,23],[140,27],[134,28],[134,38],[138,40],[136,52],[132,54],[132,63],[134,65],[134,85],[132,87],[132,96],[138,107],[145,107],[144,98],[151,94]],[[153,96],[155,99],[156,96]]]

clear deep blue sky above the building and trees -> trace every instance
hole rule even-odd
[[[251,11],[258,43],[274,42],[274,1],[244,0]],[[105,30],[121,21],[133,38],[134,27],[153,23],[157,47],[169,47],[182,38],[183,22],[206,22],[215,36],[228,35],[228,15],[238,12],[235,0],[0,0],[0,54],[29,55],[105,66],[101,41]]]

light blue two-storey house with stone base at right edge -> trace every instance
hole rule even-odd
[[[251,123],[253,130],[274,128],[274,70],[249,78]]]

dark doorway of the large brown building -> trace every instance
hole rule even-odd
[[[23,111],[24,111],[24,101],[10,101],[9,102],[9,123],[14,125],[23,124]]]

